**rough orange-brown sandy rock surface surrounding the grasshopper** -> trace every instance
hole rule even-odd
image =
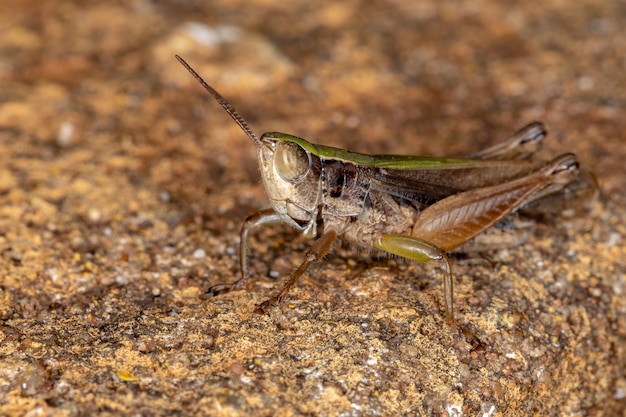
[[[416,3],[415,5],[407,5]],[[44,4],[44,5],[42,5]],[[497,4],[497,5],[496,5]],[[626,5],[120,1],[0,5],[0,415],[625,415]],[[258,132],[462,155],[533,120],[602,196],[437,268],[310,244],[267,207]]]

